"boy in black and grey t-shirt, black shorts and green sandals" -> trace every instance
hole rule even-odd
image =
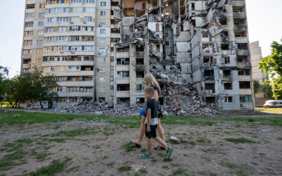
[[[145,136],[148,138],[146,152],[139,155],[139,158],[151,158],[150,150],[152,146],[152,138],[158,143],[162,144],[166,150],[167,159],[170,158],[172,148],[157,136],[157,125],[158,125],[158,103],[154,98],[155,90],[152,87],[147,87],[145,90],[145,97],[149,99],[147,101],[147,121],[145,122]]]

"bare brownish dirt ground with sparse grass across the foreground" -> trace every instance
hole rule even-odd
[[[22,150],[46,152],[48,155],[43,159],[39,157],[41,159],[38,160],[28,154],[25,156],[25,164],[2,171],[0,175],[14,176],[35,172],[50,165],[52,160],[63,160],[65,157],[70,158],[70,169],[56,175],[282,175],[281,126],[247,121],[220,121],[212,126],[162,126],[168,145],[174,148],[171,161],[164,160],[163,150],[153,148],[153,158],[139,159],[141,150],[146,148],[146,140],[141,148],[127,152],[126,148],[132,148],[124,146],[130,139],[137,138],[137,128],[77,120],[2,126],[2,148],[5,143],[28,138],[32,142],[24,144]],[[80,131],[85,128],[90,133],[79,136],[60,133],[64,130]],[[169,142],[171,136],[181,138],[181,143]],[[256,143],[233,143],[225,140],[242,137]],[[51,141],[54,138],[63,140]],[[8,149],[9,147],[1,150],[0,158],[11,153],[6,151]]]

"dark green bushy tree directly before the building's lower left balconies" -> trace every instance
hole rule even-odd
[[[32,100],[33,102],[39,101],[41,108],[43,108],[42,101],[52,101],[54,97],[57,97],[57,92],[53,89],[58,86],[54,75],[42,75],[42,71],[37,70],[34,67],[34,71],[26,74],[30,77],[32,82]]]

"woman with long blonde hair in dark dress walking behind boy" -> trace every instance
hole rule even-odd
[[[152,87],[155,90],[154,97],[155,97],[156,101],[158,101],[159,100],[159,95],[161,93],[161,89],[160,89],[160,85],[158,84],[157,80],[150,73],[146,74],[144,76],[144,80],[145,80],[144,83],[147,86],[150,86],[150,87]],[[160,104],[159,104],[159,107],[158,107],[158,126],[157,126],[157,131],[159,133],[160,138],[162,138],[162,140],[165,142],[165,139],[164,139],[164,129],[162,128],[161,121],[160,121],[160,119],[162,117],[163,117],[162,110],[161,110],[161,107],[160,107]],[[137,148],[141,147],[142,140],[143,140],[143,137],[145,135],[145,121],[146,121],[146,115],[142,116],[142,119],[141,119],[139,138],[136,141],[132,141],[132,140],[130,141],[130,143],[132,145],[134,145],[135,147],[137,147]],[[158,145],[158,146],[155,146],[155,149],[156,150],[164,150],[164,147],[162,145]]]

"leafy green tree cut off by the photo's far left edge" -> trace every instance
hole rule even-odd
[[[6,92],[9,89],[8,75],[9,75],[8,67],[3,67],[0,65],[0,103],[1,103],[1,107],[2,107],[4,99],[6,98]]]

